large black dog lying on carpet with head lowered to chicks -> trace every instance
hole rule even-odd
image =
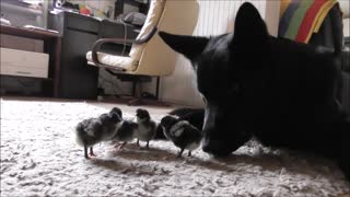
[[[256,137],[331,158],[350,178],[350,118],[337,100],[340,49],[270,36],[250,3],[240,8],[232,34],[159,34],[197,72],[207,103],[203,151],[228,155]]]

